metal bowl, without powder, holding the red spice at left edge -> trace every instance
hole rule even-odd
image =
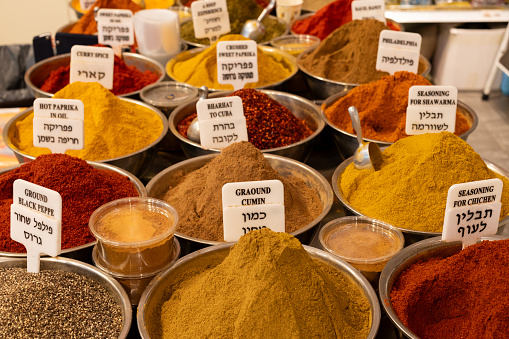
[[[105,171],[111,171],[111,172],[114,172],[114,173],[117,173],[117,174],[120,174],[124,177],[127,177],[129,179],[129,181],[132,183],[132,185],[134,186],[134,188],[136,189],[136,191],[138,192],[138,195],[140,197],[146,197],[147,196],[147,190],[145,189],[145,186],[142,184],[142,182],[136,178],[134,175],[132,175],[131,173],[121,169],[121,168],[118,168],[116,166],[113,166],[113,165],[109,165],[109,164],[102,164],[102,163],[98,163],[98,162],[87,162],[89,165],[91,165],[93,168],[95,169],[98,169],[98,170],[105,170]],[[69,166],[71,166],[71,163],[67,163]],[[19,168],[20,166],[22,165],[16,165],[16,166],[13,166],[13,167],[9,167],[9,168],[4,168],[4,169],[1,169],[0,170],[0,177],[14,169],[17,169]],[[76,167],[73,167],[74,170],[76,170]],[[43,174],[42,170],[39,171],[41,174]],[[69,170],[67,172],[67,174],[69,176],[72,175],[72,169]],[[46,173],[45,176],[48,176],[49,177],[49,174]],[[77,180],[78,178],[76,178]],[[74,189],[71,185],[68,187],[68,189],[72,192],[72,190]],[[11,192],[12,193],[12,192]],[[91,197],[93,198],[93,197]],[[64,201],[65,203],[65,201]],[[87,213],[92,213],[93,210],[90,210],[90,211],[85,211],[86,207],[84,204],[82,204],[81,208],[83,209],[81,211],[81,213],[84,213],[84,212],[87,212]],[[65,210],[64,210],[65,211]],[[80,213],[79,211],[77,211],[76,213]],[[77,217],[76,217],[77,219]],[[78,230],[78,227],[77,225],[75,225],[74,227],[74,230],[69,230],[70,232],[76,232]],[[88,231],[88,223],[86,223],[85,225],[82,225],[82,227],[84,228],[84,230],[86,229]],[[75,241],[79,241],[78,239],[80,239],[80,237],[75,237],[76,240]],[[93,238],[92,238],[93,239]],[[92,258],[92,247],[97,243],[97,241],[91,241],[89,243],[86,243],[86,244],[82,244],[82,245],[78,245],[78,246],[73,246],[73,247],[70,247],[70,248],[65,248],[62,250],[61,252],[61,256],[63,257],[67,257],[67,258],[72,258],[72,259],[76,259],[76,260],[80,260],[80,261],[84,261],[84,262],[92,262],[91,261],[91,258]],[[3,251],[0,251],[0,257],[8,257],[8,258],[26,258],[27,254],[26,253],[15,253],[15,252],[3,252]]]

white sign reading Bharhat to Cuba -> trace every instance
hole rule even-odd
[[[196,103],[200,144],[204,149],[221,149],[248,141],[242,99],[238,96],[202,99]]]

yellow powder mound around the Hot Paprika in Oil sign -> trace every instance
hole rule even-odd
[[[53,96],[78,99],[85,106],[85,148],[65,153],[85,160],[105,160],[134,153],[153,143],[163,132],[161,118],[152,110],[116,97],[97,82],[73,82]],[[34,114],[16,122],[12,143],[22,153],[50,153],[33,144]]]

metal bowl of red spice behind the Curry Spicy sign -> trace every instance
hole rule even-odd
[[[120,75],[126,79],[129,79],[130,81],[133,78],[136,79],[136,81],[134,81],[132,84],[126,85],[119,83],[117,91],[123,93],[117,94],[120,97],[137,98],[144,86],[160,82],[166,76],[164,67],[160,63],[141,54],[123,53],[122,60],[125,65],[129,66],[129,68],[122,68],[122,73],[120,73]],[[53,94],[55,94],[58,90],[49,92],[42,90],[41,87],[50,77],[52,78],[52,83],[54,83],[54,85],[48,84],[47,86],[49,86],[49,88],[52,88],[57,84],[61,84],[61,86],[58,87],[64,87],[66,84],[68,84],[70,64],[70,53],[56,55],[39,61],[26,71],[25,83],[35,92],[36,98],[51,98]],[[133,70],[132,67],[137,69],[139,72]],[[146,73],[147,71],[151,72],[150,77],[148,77]],[[55,73],[52,75],[52,72]],[[146,84],[144,85],[145,82]],[[112,91],[115,93],[115,88]]]

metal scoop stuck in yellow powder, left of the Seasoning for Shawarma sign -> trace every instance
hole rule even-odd
[[[375,171],[380,170],[383,161],[380,147],[374,142],[364,143],[362,141],[361,119],[357,108],[350,106],[348,113],[352,118],[352,126],[355,133],[357,133],[357,141],[359,142],[359,147],[355,150],[353,157],[353,165],[357,169],[373,168]]]

